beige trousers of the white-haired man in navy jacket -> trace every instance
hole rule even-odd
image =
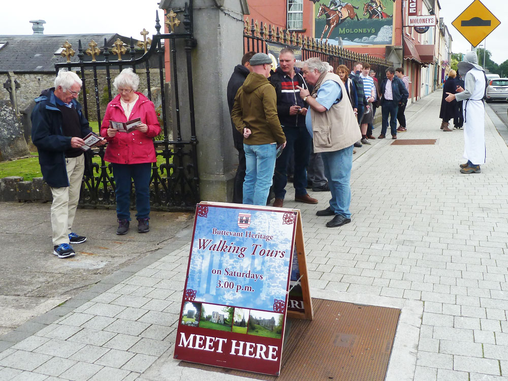
[[[84,155],[66,157],[67,178],[70,186],[51,188],[53,204],[51,204],[51,227],[53,229],[53,245],[69,243],[76,208],[78,206],[81,179],[85,170]]]

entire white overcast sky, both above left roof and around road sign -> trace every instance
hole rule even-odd
[[[0,12],[0,35],[31,35],[30,20],[42,19],[44,33],[85,34],[118,33],[126,37],[141,39],[140,31],[146,28],[150,35],[155,33],[155,12],[160,0],[88,0],[84,2],[62,3],[55,0],[3,1]],[[307,1],[307,0],[305,0]],[[471,45],[452,25],[452,21],[472,0],[440,0],[440,17],[448,26],[453,38],[452,51],[465,53]],[[503,41],[508,35],[508,18],[505,16],[506,0],[482,0],[482,3],[501,21],[487,37],[486,48],[492,52],[492,59],[502,63],[508,59],[508,49]],[[63,4],[76,7],[66,14]],[[80,5],[84,5],[80,7]],[[159,10],[162,19],[162,10]],[[481,43],[483,45],[483,43]]]

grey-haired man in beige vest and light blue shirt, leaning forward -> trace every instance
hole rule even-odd
[[[334,218],[326,224],[335,228],[351,222],[351,168],[353,166],[353,144],[360,140],[358,121],[351,107],[342,80],[338,75],[327,72],[326,62],[309,58],[303,66],[303,76],[308,84],[314,85],[312,93],[300,89],[300,97],[309,105],[306,125],[313,137],[314,152],[321,152],[328,178],[330,206],[316,213],[318,216]]]

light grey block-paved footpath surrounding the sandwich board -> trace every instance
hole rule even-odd
[[[399,134],[435,145],[358,149],[351,224],[315,216],[326,192],[296,203],[290,184],[285,205],[302,210],[313,297],[401,309],[387,380],[507,381],[508,148],[487,116],[488,162],[460,174],[463,133],[439,130],[440,101],[410,105]],[[188,234],[0,337],[0,380],[242,379],[172,358]]]

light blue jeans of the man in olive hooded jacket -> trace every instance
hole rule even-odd
[[[245,181],[243,182],[243,203],[266,205],[275,168],[275,144],[243,144],[245,151]]]

